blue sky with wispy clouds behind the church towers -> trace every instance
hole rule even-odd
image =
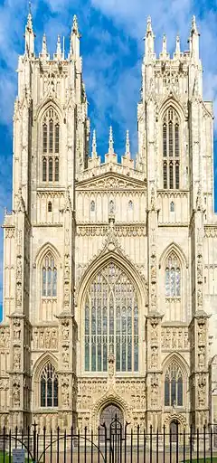
[[[57,35],[65,36],[66,51],[73,14],[78,15],[83,56],[83,75],[89,99],[91,129],[97,129],[98,152],[108,150],[109,125],[115,149],[123,153],[125,133],[130,131],[132,152],[137,152],[137,101],[141,87],[146,17],[152,16],[156,52],[166,33],[167,48],[174,52],[175,36],[188,49],[191,18],[195,14],[201,33],[203,97],[212,99],[217,116],[217,1],[216,0],[33,0],[36,52],[47,34],[49,52],[55,52]],[[16,95],[16,66],[24,52],[27,0],[0,0],[0,222],[11,208],[12,118]],[[215,122],[214,137],[217,140]],[[217,143],[215,142],[217,152]],[[215,174],[217,158],[215,159]],[[217,186],[217,185],[216,185]],[[215,188],[217,204],[217,188]],[[0,319],[2,304],[3,233],[0,231]]]

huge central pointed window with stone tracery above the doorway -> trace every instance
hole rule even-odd
[[[90,282],[84,310],[85,371],[106,372],[109,354],[114,354],[117,372],[137,372],[137,292],[115,263],[110,262]]]

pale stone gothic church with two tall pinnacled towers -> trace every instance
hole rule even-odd
[[[213,112],[194,17],[173,56],[165,36],[156,56],[147,19],[137,128],[136,158],[127,132],[118,162],[110,128],[102,163],[76,16],[68,56],[58,38],[51,58],[45,35],[35,55],[30,13],[4,221],[1,427],[217,420]]]

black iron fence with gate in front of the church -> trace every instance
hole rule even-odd
[[[62,431],[29,427],[25,432],[0,431],[0,463],[13,463],[14,449],[24,449],[25,463],[215,463],[217,462],[217,429],[210,426],[189,432],[160,432],[152,427],[142,430],[122,426],[114,418],[110,426],[97,432]]]

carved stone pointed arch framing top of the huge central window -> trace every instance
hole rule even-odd
[[[99,255],[99,258],[93,260],[90,263],[90,266],[80,279],[80,284],[77,290],[77,305],[78,307],[83,307],[85,290],[90,279],[94,278],[95,275],[99,272],[100,269],[105,267],[109,262],[114,262],[120,269],[124,270],[127,273],[127,276],[133,280],[135,288],[137,288],[137,297],[138,297],[138,306],[141,307],[142,304],[146,304],[146,285],[145,281],[142,280],[137,269],[133,264],[127,260],[124,256],[117,254],[114,251],[109,251],[106,255]]]

